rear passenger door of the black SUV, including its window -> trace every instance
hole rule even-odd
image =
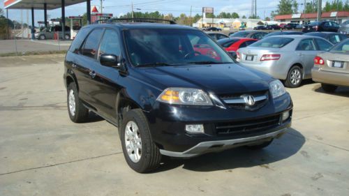
[[[96,77],[96,67],[98,66],[98,46],[103,35],[103,29],[93,29],[84,40],[79,54],[75,58],[76,77],[79,85],[79,96],[94,109],[97,102],[91,96],[91,92],[96,91],[96,86],[92,85],[92,80]]]

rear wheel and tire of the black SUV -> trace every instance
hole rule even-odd
[[[79,96],[77,96],[77,88],[74,82],[71,82],[67,88],[67,107],[71,121],[82,123],[87,120],[89,110],[82,105]]]

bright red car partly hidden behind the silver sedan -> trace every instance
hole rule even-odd
[[[252,43],[255,43],[256,39],[253,38],[224,38],[221,40],[218,40],[217,42],[224,47],[225,50],[228,52],[234,51],[237,52],[239,48],[247,47],[248,45],[251,45]]]

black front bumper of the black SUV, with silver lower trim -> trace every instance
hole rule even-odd
[[[290,112],[290,117],[282,121],[281,115],[285,111]],[[253,112],[229,107],[156,103],[154,110],[144,114],[149,122],[151,138],[163,155],[192,157],[235,146],[258,144],[281,135],[291,126],[292,100],[286,93]],[[269,124],[269,121],[274,122]],[[186,132],[188,124],[202,124],[205,133]]]

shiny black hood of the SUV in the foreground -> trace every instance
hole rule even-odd
[[[153,85],[162,86],[161,89],[187,87],[215,94],[263,91],[269,89],[272,80],[269,75],[238,63],[136,69]]]

